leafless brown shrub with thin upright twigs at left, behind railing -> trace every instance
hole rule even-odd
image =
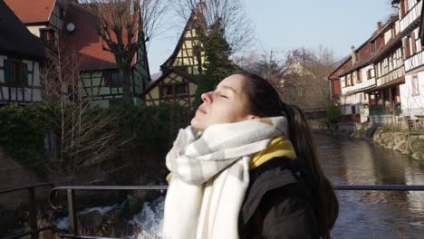
[[[40,76],[43,100],[58,116],[50,144],[56,167],[69,173],[114,158],[123,143],[114,125],[119,113],[95,109],[81,97],[76,53],[64,51],[61,42],[54,52],[46,50]]]

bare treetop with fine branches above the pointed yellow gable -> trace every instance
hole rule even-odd
[[[193,9],[198,14],[204,29],[209,29],[218,21],[225,30],[226,42],[232,53],[236,53],[254,40],[254,31],[251,21],[246,16],[240,0],[177,0],[177,14],[188,21]]]

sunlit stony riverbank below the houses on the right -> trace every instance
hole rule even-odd
[[[342,135],[345,134],[346,132],[342,132]],[[398,151],[404,155],[410,156],[410,158],[424,162],[423,132],[409,132],[385,127],[375,128],[362,124],[360,129],[349,133],[349,135],[354,138],[366,139],[381,147]]]

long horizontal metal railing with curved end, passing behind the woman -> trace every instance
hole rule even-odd
[[[335,185],[334,190],[342,191],[424,191],[424,185]],[[69,234],[60,234],[62,238],[93,238],[112,239],[78,234],[77,214],[75,210],[75,190],[167,190],[168,186],[56,186],[50,191],[49,201],[53,209],[63,208],[58,204],[57,196],[61,190],[66,190],[68,202]]]

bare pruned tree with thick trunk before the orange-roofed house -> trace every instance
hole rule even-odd
[[[82,0],[76,4],[92,15],[103,50],[114,55],[122,78],[122,100],[131,103],[131,62],[145,39],[158,32],[168,0]]]

